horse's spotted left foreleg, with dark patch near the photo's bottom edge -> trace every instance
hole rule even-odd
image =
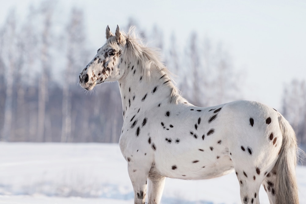
[[[132,162],[128,164],[129,177],[134,189],[134,204],[145,203],[149,170],[150,168]]]

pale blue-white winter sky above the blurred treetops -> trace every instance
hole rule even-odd
[[[13,6],[23,17],[30,2],[40,1],[0,0],[0,24]],[[222,42],[232,56],[233,66],[246,73],[244,99],[260,101],[275,109],[281,109],[285,83],[293,78],[306,79],[304,0],[65,0],[58,3],[65,13],[69,13],[72,5],[84,8],[88,39],[96,48],[105,41],[107,24],[114,32],[116,25],[125,26],[129,17],[148,31],[156,24],[163,31],[165,43],[175,32],[177,44],[185,46],[191,31],[196,31],[200,38],[208,36],[214,42]]]

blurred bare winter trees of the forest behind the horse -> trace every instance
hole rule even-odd
[[[0,140],[118,142],[123,119],[117,83],[97,86],[91,92],[78,85],[80,71],[105,36],[101,34],[101,42],[90,46],[82,9],[72,8],[65,22],[56,15],[57,6],[54,1],[30,6],[25,19],[12,9],[0,25]],[[191,32],[179,48],[175,34],[164,39],[158,26],[144,31],[131,18],[121,29],[127,31],[130,25],[137,27],[150,46],[160,48],[165,64],[178,76],[177,86],[194,105],[245,99],[240,89],[247,73],[234,69],[221,42],[212,43]],[[283,90],[281,104],[278,111],[305,147],[305,81],[292,79]]]

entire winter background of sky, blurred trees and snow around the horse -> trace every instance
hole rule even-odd
[[[191,103],[263,102],[285,116],[306,150],[303,1],[115,3],[0,1],[0,203],[132,202],[117,144],[118,84],[91,92],[78,85],[107,24],[113,32],[117,24],[125,31],[135,25],[159,47]],[[305,173],[297,168],[301,203]],[[239,185],[232,174],[168,179],[162,202],[240,203]]]

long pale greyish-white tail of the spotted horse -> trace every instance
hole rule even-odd
[[[289,122],[280,116],[279,126],[282,131],[282,148],[276,162],[276,203],[299,203],[295,168],[297,166],[297,140]]]

